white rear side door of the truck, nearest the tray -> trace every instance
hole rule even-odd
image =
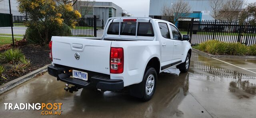
[[[159,32],[161,33],[161,65],[162,67],[169,67],[168,65],[172,63],[174,42],[171,40],[168,24],[158,22],[158,26]]]

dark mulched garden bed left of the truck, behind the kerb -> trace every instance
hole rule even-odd
[[[1,61],[1,66],[5,68],[2,74],[4,74],[6,79],[0,78],[0,85],[17,79],[18,77],[26,75],[27,73],[30,73],[51,63],[49,58],[50,50],[48,46],[25,45],[18,47],[18,49],[24,54],[25,58],[30,62],[30,64],[24,67],[24,70],[21,70],[22,72],[18,73],[17,71],[14,72],[14,70],[12,70],[17,64]],[[4,51],[0,51],[0,53],[4,53]],[[25,64],[23,65],[25,66]],[[17,68],[20,69],[21,67],[17,66]]]

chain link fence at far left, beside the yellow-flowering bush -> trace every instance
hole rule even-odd
[[[0,13],[10,14],[10,10],[0,8]],[[12,20],[14,41],[22,40],[27,29],[24,23],[26,22],[26,20],[30,19],[28,19],[25,14],[21,14],[16,10],[12,10]],[[0,47],[6,44],[12,44],[11,27],[0,27]]]

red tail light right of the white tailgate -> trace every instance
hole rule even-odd
[[[119,74],[124,71],[124,49],[111,47],[110,49],[110,73]]]

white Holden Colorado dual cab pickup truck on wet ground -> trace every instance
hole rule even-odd
[[[164,20],[109,18],[101,38],[53,36],[48,73],[67,83],[64,89],[70,92],[126,87],[132,96],[147,101],[156,90],[159,73],[171,67],[188,71],[192,52],[188,40],[189,35],[182,37]]]

